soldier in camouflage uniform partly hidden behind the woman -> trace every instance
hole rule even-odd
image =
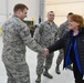
[[[73,13],[70,12],[70,13],[67,14],[67,20],[60,25],[60,28],[59,28],[59,33],[57,33],[57,37],[59,37],[59,38],[61,38],[65,32],[69,31],[69,20],[70,20],[70,17],[71,17],[72,14],[73,14]],[[57,56],[57,59],[56,59],[56,68],[55,68],[55,72],[56,72],[57,74],[61,73],[61,72],[60,72],[60,64],[61,64],[61,62],[62,62],[63,59],[64,59],[64,52],[63,52],[63,50],[60,50],[60,54],[59,54],[59,56]],[[72,70],[72,66],[69,66],[69,69]]]

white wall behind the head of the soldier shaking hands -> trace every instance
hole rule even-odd
[[[39,23],[39,1],[40,0],[0,0],[0,23],[3,23],[13,14],[13,7],[17,3],[28,6],[28,17],[25,20],[34,19],[34,23]]]

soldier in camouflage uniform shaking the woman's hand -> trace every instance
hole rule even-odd
[[[29,28],[23,22],[28,7],[19,3],[14,6],[13,11],[14,15],[2,27],[2,61],[7,70],[8,83],[30,83],[29,66],[25,62],[25,45],[40,53],[43,52],[43,49],[31,38]]]

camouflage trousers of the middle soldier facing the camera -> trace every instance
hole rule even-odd
[[[38,54],[38,65],[36,65],[36,74],[41,75],[43,73],[43,68],[49,70],[52,65],[54,53],[49,54],[48,58],[43,56],[42,54]]]

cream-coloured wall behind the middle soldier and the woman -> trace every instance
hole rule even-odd
[[[66,20],[69,12],[84,17],[84,0],[45,0],[45,19],[48,11],[55,12],[55,22],[60,25]]]

